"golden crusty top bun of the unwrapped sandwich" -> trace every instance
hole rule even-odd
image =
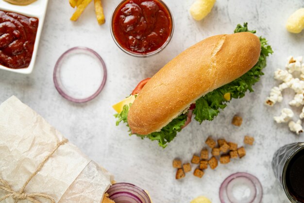
[[[133,133],[160,131],[191,103],[253,68],[260,56],[252,33],[211,36],[183,51],[143,87],[130,108]]]

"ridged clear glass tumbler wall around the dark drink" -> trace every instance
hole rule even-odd
[[[287,187],[287,178],[289,178],[287,177],[288,165],[292,158],[302,150],[304,150],[304,142],[287,144],[274,153],[271,162],[274,175],[280,182],[280,186],[284,189],[291,203],[304,203],[303,201],[300,202],[300,200],[297,200]]]

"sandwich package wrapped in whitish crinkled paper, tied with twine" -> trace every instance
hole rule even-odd
[[[101,203],[112,180],[16,97],[0,105],[1,203]]]

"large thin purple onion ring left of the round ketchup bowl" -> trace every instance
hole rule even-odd
[[[63,59],[65,59],[65,57],[68,54],[71,54],[73,52],[76,51],[83,51],[93,57],[95,57],[101,64],[101,70],[103,71],[103,78],[101,81],[101,85],[99,86],[99,88],[97,89],[97,91],[92,94],[91,96],[84,98],[84,99],[77,99],[77,98],[73,98],[71,95],[68,95],[68,93],[65,92],[65,88],[62,85],[61,79],[60,79],[60,67],[62,65],[62,61]],[[53,72],[53,80],[54,80],[54,85],[55,88],[57,89],[57,91],[59,92],[59,94],[64,97],[65,99],[67,99],[68,101],[72,101],[72,102],[76,102],[76,103],[84,103],[87,101],[91,101],[93,100],[95,97],[97,97],[100,93],[101,90],[103,89],[105,82],[106,82],[106,78],[107,78],[107,71],[106,71],[106,66],[101,58],[101,56],[94,50],[91,50],[89,48],[86,47],[74,47],[69,49],[68,51],[64,52],[59,59],[56,62],[55,68],[54,68],[54,72]]]

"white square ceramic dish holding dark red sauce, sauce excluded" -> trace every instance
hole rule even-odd
[[[35,44],[34,44],[33,56],[32,56],[32,60],[31,60],[29,67],[13,69],[13,68],[6,68],[6,67],[0,65],[0,69],[17,72],[17,73],[22,73],[22,74],[30,74],[33,71],[33,68],[35,65],[37,49],[38,49],[38,44],[39,44],[39,39],[40,39],[42,27],[43,27],[44,17],[45,17],[46,11],[47,11],[48,1],[49,0],[37,0],[34,3],[27,5],[27,6],[17,6],[17,5],[10,4],[4,0],[0,0],[0,10],[2,10],[2,11],[15,12],[15,13],[18,13],[18,14],[21,14],[24,16],[28,16],[28,17],[37,17],[39,19],[36,40],[35,40]]]

